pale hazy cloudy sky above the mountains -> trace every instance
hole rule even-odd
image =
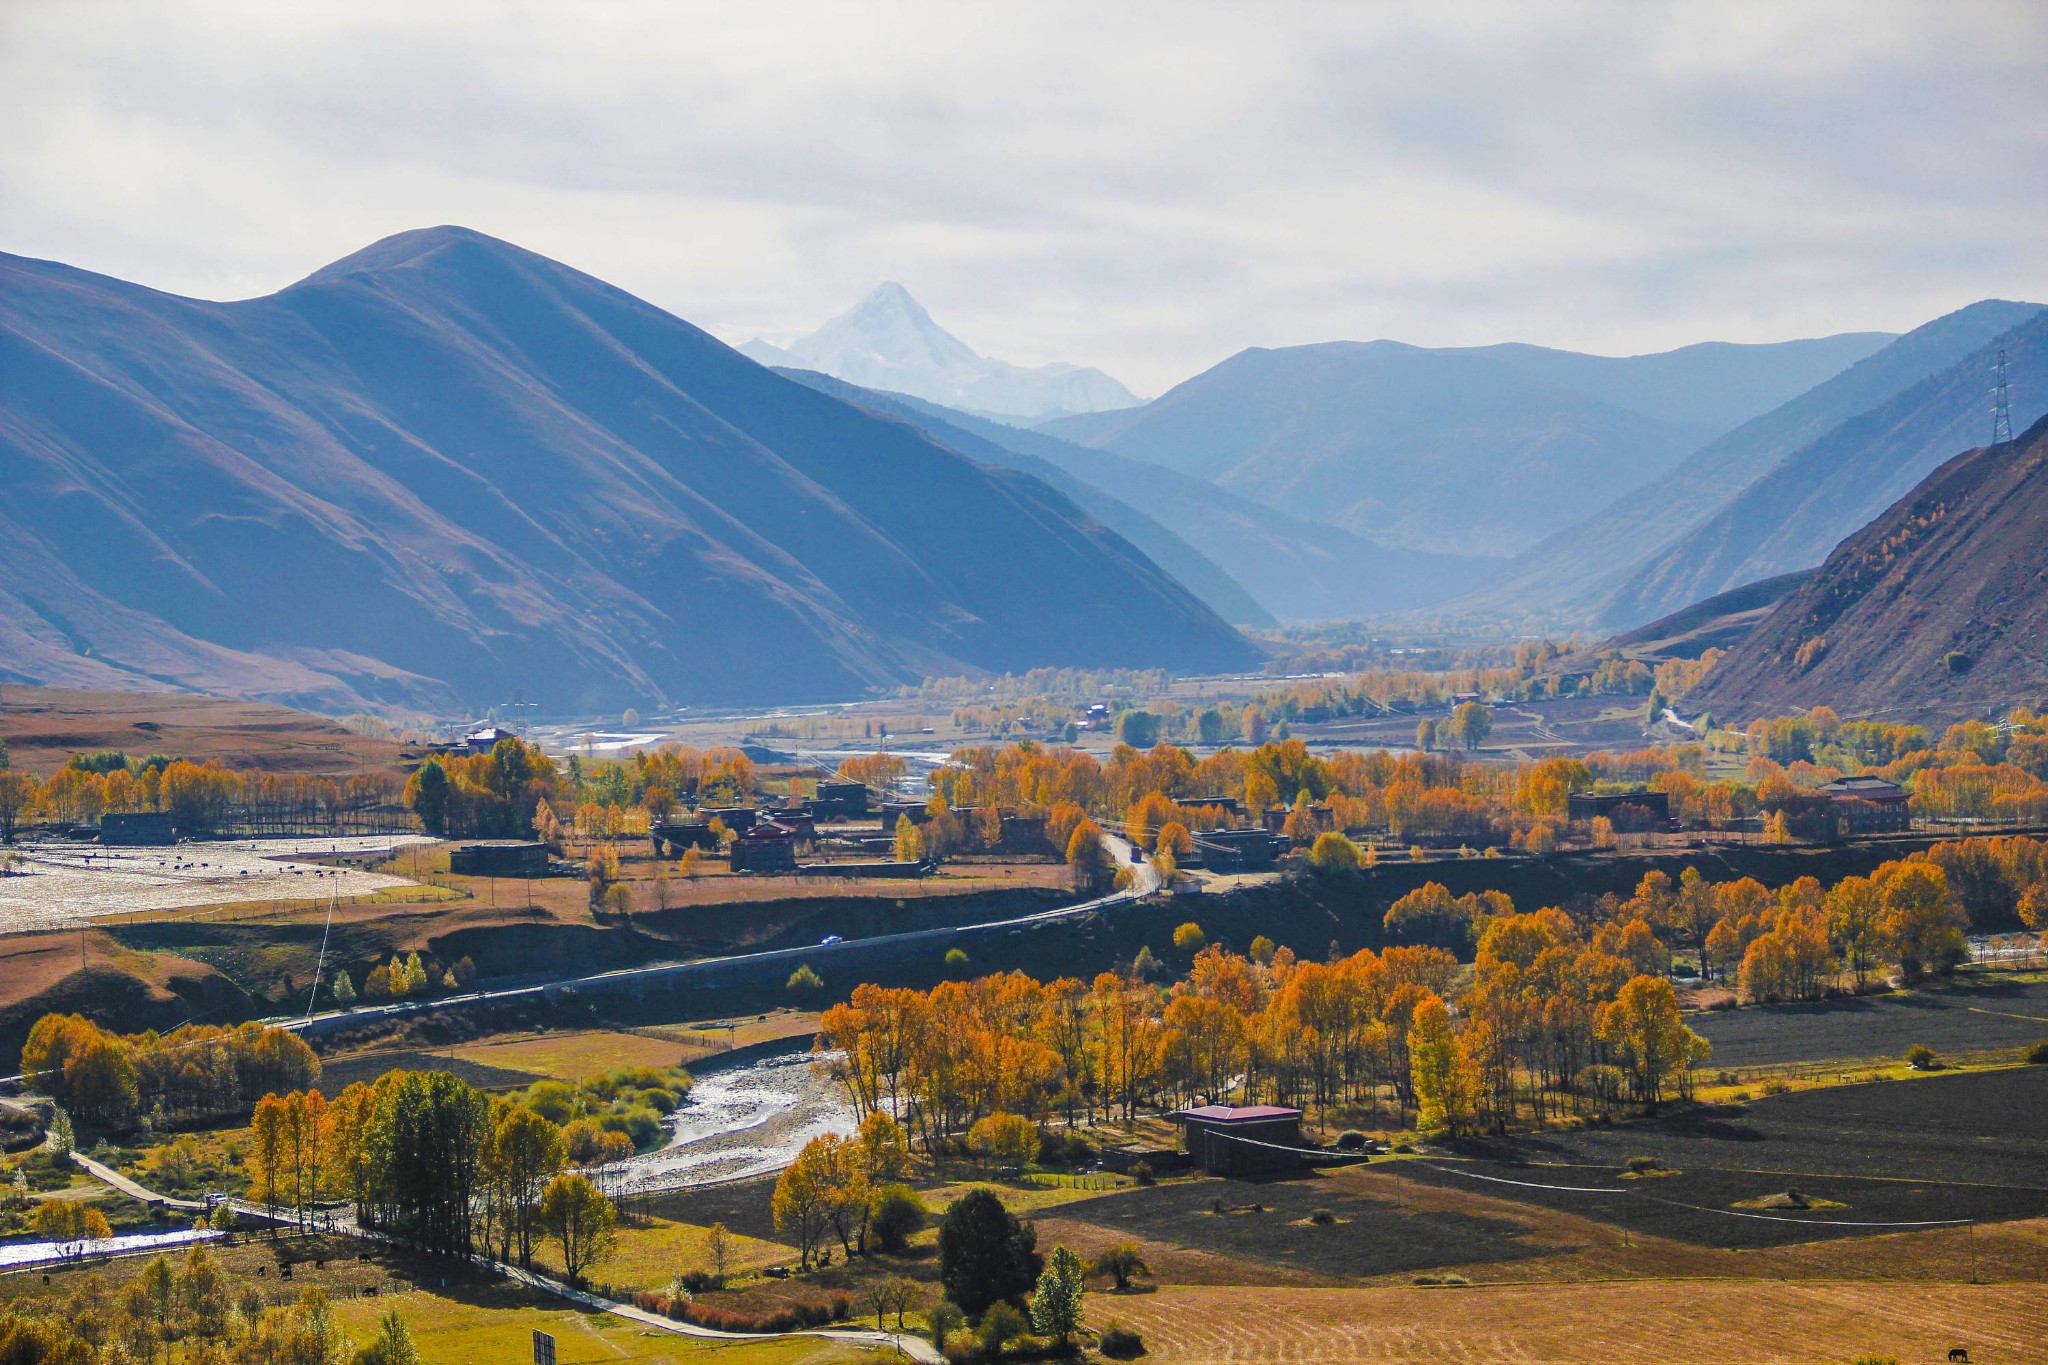
[[[268,293],[465,223],[727,340],[901,280],[1143,393],[2048,301],[2048,4],[0,0],[0,250]]]

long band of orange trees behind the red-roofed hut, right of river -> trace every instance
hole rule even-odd
[[[1139,972],[862,984],[825,1011],[819,1046],[856,1113],[897,1117],[930,1150],[989,1115],[1128,1121],[1196,1097],[1391,1103],[1458,1130],[1501,1126],[1518,1105],[1624,1091],[1657,1103],[1688,1087],[1706,1044],[1679,1023],[1669,980],[1563,913],[1503,921],[1534,921],[1511,935],[1528,952],[1477,972],[1440,948],[1313,962],[1260,939],[1249,956],[1204,948],[1165,988]]]

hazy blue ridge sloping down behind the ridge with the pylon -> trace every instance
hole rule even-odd
[[[1454,606],[1489,614],[1597,616],[1636,567],[1710,520],[1731,495],[1769,473],[1778,460],[1946,370],[2036,313],[2038,303],[1987,299],[1907,332],[1839,375],[1694,450],[1657,481],[1552,532],[1518,555],[1495,581]]]

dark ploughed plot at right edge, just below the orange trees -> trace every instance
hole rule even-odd
[[[2019,1048],[2048,1038],[2048,982],[1962,976],[1901,995],[1708,1011],[1688,1023],[1714,1044],[1710,1068],[1896,1058],[1915,1044]]]

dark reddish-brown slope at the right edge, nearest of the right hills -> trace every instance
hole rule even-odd
[[[1958,454],[1843,540],[1688,704],[1956,720],[2048,698],[2048,417]]]

